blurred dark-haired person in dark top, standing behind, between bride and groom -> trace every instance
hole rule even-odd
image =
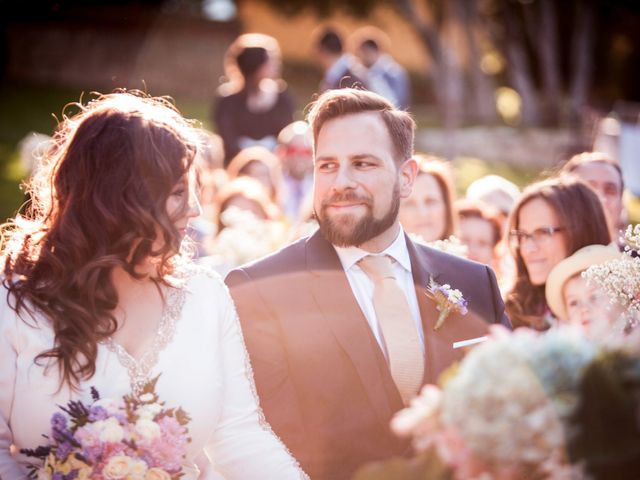
[[[225,55],[227,83],[220,86],[213,123],[224,140],[225,165],[243,148],[273,150],[293,121],[294,104],[280,78],[280,46],[260,33],[240,35]]]

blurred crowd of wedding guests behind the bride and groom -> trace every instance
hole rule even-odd
[[[357,86],[408,108],[407,72],[385,53],[387,44],[384,32],[373,27],[346,41],[332,28],[315,32],[324,71],[319,91]],[[273,37],[239,36],[226,52],[226,82],[212,106],[217,134],[201,131],[196,164],[202,215],[192,223],[191,237],[201,261],[223,276],[316,228],[313,132],[294,121],[280,57]],[[42,144],[40,136],[30,136],[23,157],[37,157]],[[627,216],[616,159],[599,152],[575,155],[522,191],[488,175],[457,198],[450,162],[423,153],[415,158],[419,174],[400,205],[404,230],[491,266],[514,327],[619,320],[621,310],[581,275],[621,255]],[[634,321],[626,319],[621,328]]]

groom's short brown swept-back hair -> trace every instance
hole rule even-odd
[[[365,112],[380,113],[389,131],[397,164],[412,157],[416,124],[411,115],[404,110],[398,110],[391,102],[376,93],[355,88],[328,90],[311,104],[307,120],[313,130],[314,149],[318,142],[318,134],[327,121]]]

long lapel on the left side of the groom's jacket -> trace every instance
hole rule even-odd
[[[307,268],[311,273],[309,288],[318,309],[353,362],[378,418],[388,426],[391,415],[402,408],[402,400],[340,259],[319,231],[307,241]],[[393,389],[385,386],[389,385],[388,380]]]

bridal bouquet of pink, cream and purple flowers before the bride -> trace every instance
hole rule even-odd
[[[70,401],[51,418],[49,445],[21,450],[43,460],[33,467],[38,480],[170,480],[182,476],[189,416],[167,409],[155,393],[157,377],[140,395],[120,402],[101,399]]]

